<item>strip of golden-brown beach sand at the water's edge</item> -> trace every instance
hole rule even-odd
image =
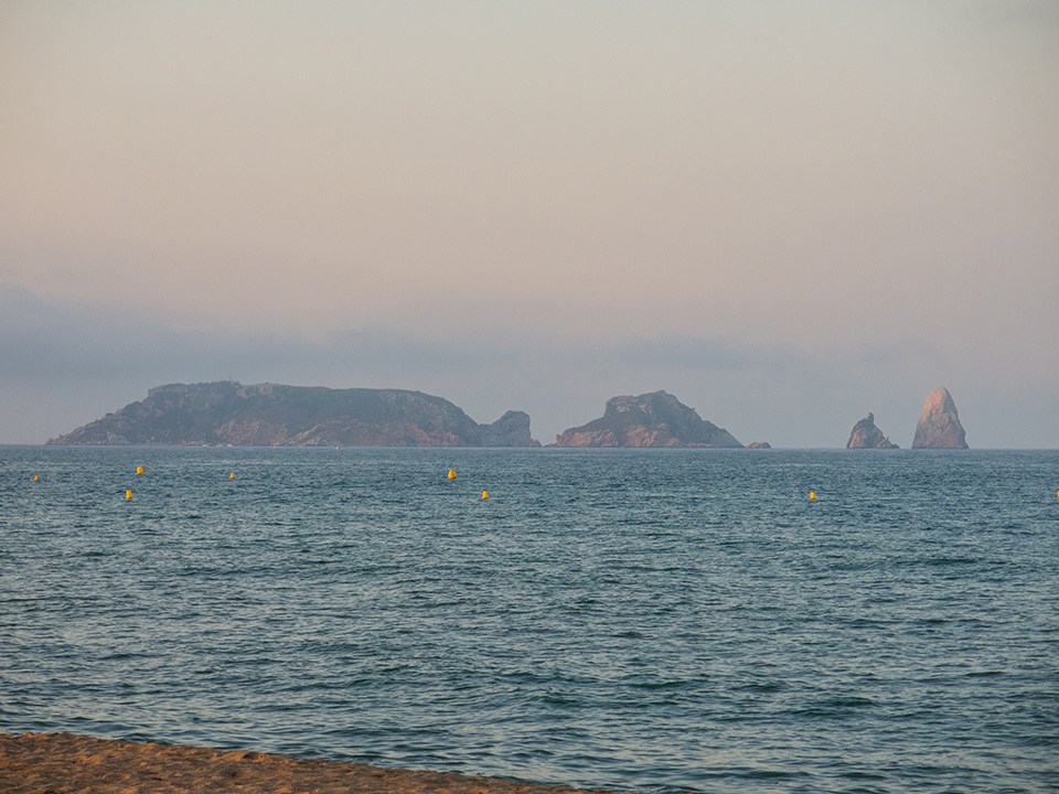
[[[74,733],[0,734],[0,791],[9,794],[574,794],[586,790],[532,785],[448,772],[378,769],[362,763],[296,759],[246,750],[94,739]]]

